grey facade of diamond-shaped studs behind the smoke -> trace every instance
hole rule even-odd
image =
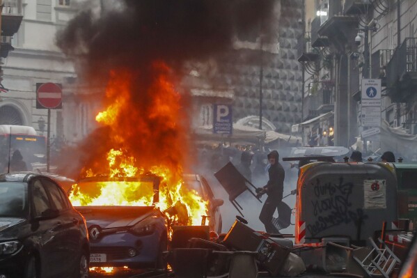
[[[260,36],[238,38],[220,68],[223,82],[235,92],[235,121],[258,116],[273,123],[275,131],[290,134],[292,124],[301,121],[303,78],[297,38],[303,31],[303,1],[276,2],[275,41],[262,45]],[[259,125],[259,120],[253,121],[253,127],[270,128]]]

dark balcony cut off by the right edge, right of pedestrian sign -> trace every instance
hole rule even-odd
[[[417,38],[406,38],[386,66],[386,86],[393,102],[407,102],[416,93]]]

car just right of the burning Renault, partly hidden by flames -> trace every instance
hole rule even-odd
[[[190,190],[196,190],[199,196],[203,198],[204,201],[208,201],[209,212],[208,212],[208,226],[210,226],[210,231],[215,231],[216,233],[221,233],[221,214],[219,206],[223,205],[222,199],[216,199],[214,197],[212,188],[207,180],[198,174],[189,173],[184,174],[184,184]],[[204,221],[203,221],[204,222]],[[202,223],[207,224],[207,223]]]

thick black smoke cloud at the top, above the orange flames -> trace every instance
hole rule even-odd
[[[237,33],[253,33],[272,16],[275,0],[124,0],[99,16],[83,10],[59,33],[57,45],[106,72],[161,59],[170,67],[224,52]],[[265,25],[262,26],[262,32]]]

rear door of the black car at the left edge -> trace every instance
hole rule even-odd
[[[61,269],[65,274],[73,271],[81,254],[80,224],[84,224],[81,215],[77,214],[65,200],[65,195],[59,185],[52,180],[42,178],[42,184],[47,189],[53,205],[59,212],[60,224],[56,227],[56,237],[61,242],[61,250],[65,254],[65,262],[61,263]]]

